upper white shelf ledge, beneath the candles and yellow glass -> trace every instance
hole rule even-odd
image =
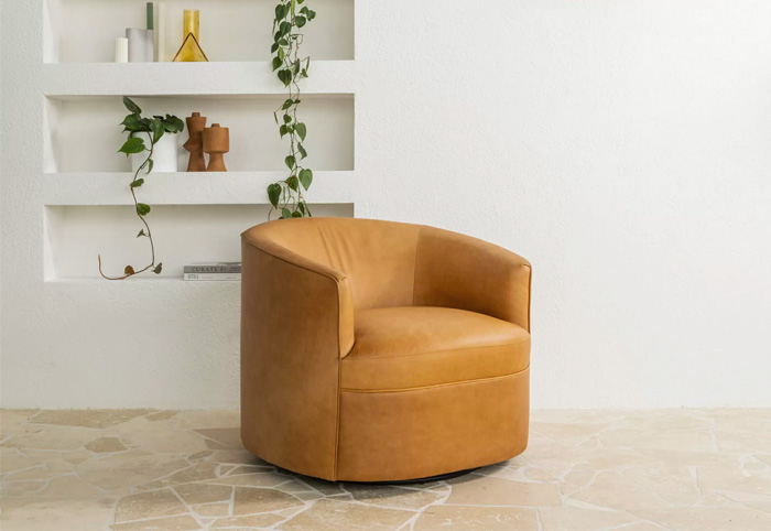
[[[354,61],[316,61],[304,94],[352,95]],[[43,94],[86,96],[275,96],[286,88],[267,62],[248,63],[52,63],[43,65]]]

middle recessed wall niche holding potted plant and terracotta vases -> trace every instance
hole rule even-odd
[[[172,113],[184,119],[200,111],[208,123],[230,128],[228,170],[234,172],[284,169],[286,139],[281,139],[273,111],[283,95],[206,95],[135,97],[146,116]],[[128,113],[118,96],[56,96],[46,98],[44,171],[128,172],[130,163],[117,150],[126,136],[118,126]],[[302,119],[307,124],[306,165],[314,171],[354,170],[354,96],[305,95]],[[182,145],[187,133],[177,134]],[[178,169],[187,152],[180,149]]]

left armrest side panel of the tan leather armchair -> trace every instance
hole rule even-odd
[[[348,279],[260,234],[242,237],[241,438],[263,459],[335,479]]]

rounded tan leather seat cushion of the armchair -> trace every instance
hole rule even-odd
[[[530,334],[464,310],[431,306],[361,310],[343,359],[343,391],[391,391],[484,380],[525,370]]]

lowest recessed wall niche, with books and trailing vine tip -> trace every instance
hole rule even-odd
[[[311,205],[314,216],[352,217],[354,204]],[[240,235],[268,220],[268,205],[160,205],[148,215],[155,241],[160,275],[145,273],[134,281],[177,281],[192,285],[234,282],[185,282],[185,264],[239,261]],[[275,216],[274,216],[275,217]],[[131,264],[140,269],[150,261],[146,238],[137,238],[143,226],[131,206],[45,207],[45,280],[48,282],[107,282],[99,275],[101,254],[106,274],[119,277]]]

